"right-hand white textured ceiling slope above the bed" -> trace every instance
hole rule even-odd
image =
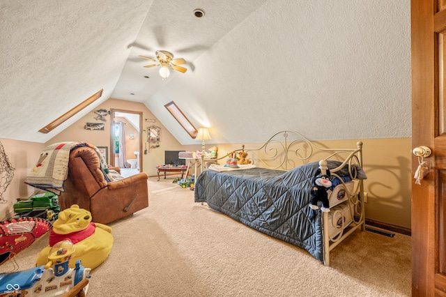
[[[169,130],[174,100],[216,143],[410,137],[410,1],[271,0],[194,66],[145,102]]]

